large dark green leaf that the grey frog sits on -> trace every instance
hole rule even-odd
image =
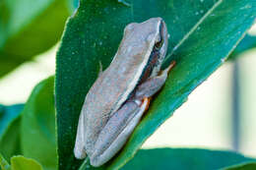
[[[103,69],[109,65],[127,24],[162,17],[170,34],[164,67],[173,59],[177,64],[127,144],[106,164],[109,169],[131,159],[189,93],[222,65],[256,15],[254,0],[123,2],[82,0],[67,23],[57,53],[55,86],[60,169],[81,164],[73,154],[79,114],[99,63]]]

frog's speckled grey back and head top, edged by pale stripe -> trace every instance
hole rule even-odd
[[[160,18],[154,18],[128,25],[113,61],[87,94],[81,114],[85,114],[88,154],[92,154],[97,135],[109,115],[119,109],[140,80],[158,38],[159,27],[154,26],[159,23]]]

